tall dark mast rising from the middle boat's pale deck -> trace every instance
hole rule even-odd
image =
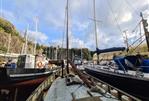
[[[66,5],[66,15],[67,15],[67,26],[66,26],[66,48],[67,48],[67,74],[69,74],[69,63],[68,63],[68,55],[69,55],[69,30],[68,30],[68,24],[69,24],[69,22],[68,22],[68,19],[69,19],[69,14],[68,14],[68,0],[67,0],[67,5]]]

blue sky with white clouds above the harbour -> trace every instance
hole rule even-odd
[[[66,0],[1,0],[0,7],[1,17],[21,34],[28,28],[30,39],[66,47]],[[141,20],[140,12],[148,19],[149,0],[96,0],[98,47],[125,46],[124,31],[129,44],[133,43],[140,35],[138,28],[133,31]],[[96,49],[93,0],[69,0],[69,42],[70,48]]]

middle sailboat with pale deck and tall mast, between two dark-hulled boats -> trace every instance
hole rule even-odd
[[[97,86],[97,83],[89,80],[82,72],[80,72],[76,65],[68,59],[68,9],[69,0],[67,0],[66,12],[67,12],[67,29],[66,29],[66,42],[67,42],[67,65],[64,68],[62,62],[62,76],[57,77],[52,83],[48,85],[48,90],[42,92],[43,87],[46,86],[51,78],[43,82],[39,88],[32,93],[27,101],[33,99],[40,99],[39,101],[118,101],[118,98],[110,93],[103,93],[102,88]],[[71,69],[70,69],[71,68]],[[66,75],[63,74],[63,70],[66,70]],[[50,87],[49,87],[50,86]],[[44,90],[44,89],[43,89]],[[38,92],[38,94],[37,94]],[[39,97],[37,96],[39,95]]]

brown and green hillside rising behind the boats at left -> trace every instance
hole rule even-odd
[[[25,39],[19,34],[19,31],[15,26],[3,19],[0,18],[0,53],[6,53],[8,50],[9,37],[11,35],[10,41],[10,53],[21,53]],[[28,53],[33,52],[33,43],[29,42],[28,44]],[[38,48],[39,49],[39,48]]]

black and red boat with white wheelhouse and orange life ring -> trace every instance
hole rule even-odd
[[[4,94],[9,101],[18,100],[20,96],[26,99],[40,83],[58,69],[44,68],[42,61],[37,61],[37,58],[32,54],[20,54],[14,68],[12,63],[0,68],[0,100],[3,100],[3,91],[7,92]]]

